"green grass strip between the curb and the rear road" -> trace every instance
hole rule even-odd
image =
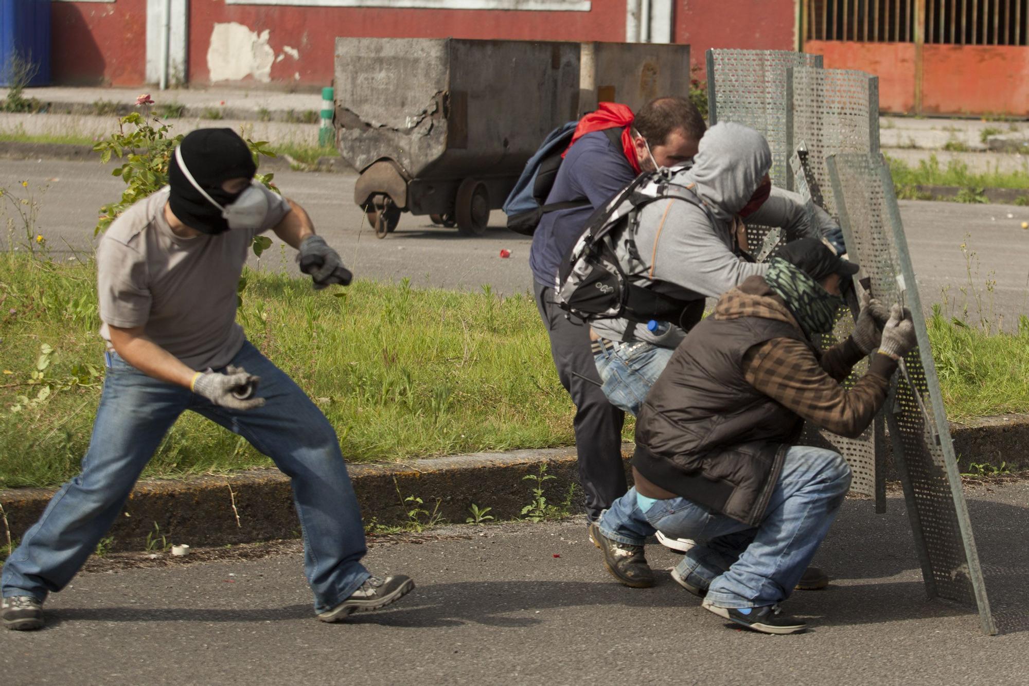
[[[37,248],[38,249],[38,248]],[[239,321],[316,399],[355,462],[568,445],[573,408],[531,298],[247,270]],[[0,488],[78,471],[102,383],[92,263],[0,253]],[[929,336],[953,419],[1029,410],[1029,319],[990,335],[943,314]],[[632,422],[625,436],[632,437]],[[186,413],[145,474],[176,477],[270,462]]]

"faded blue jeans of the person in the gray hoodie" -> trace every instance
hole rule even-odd
[[[594,359],[604,383],[601,390],[612,405],[638,416],[646,394],[675,351],[643,340],[601,340],[600,345],[603,350]]]

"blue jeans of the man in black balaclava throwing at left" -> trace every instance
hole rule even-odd
[[[107,354],[104,391],[82,472],[50,499],[3,568],[3,595],[64,588],[110,529],[136,479],[175,420],[187,409],[246,438],[292,479],[304,532],[304,567],[315,610],[340,604],[367,579],[361,513],[335,431],[321,410],[256,348],[244,342],[230,364],[260,376],[264,405],[238,411],[147,376]]]

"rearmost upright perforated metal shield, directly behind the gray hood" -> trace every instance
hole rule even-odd
[[[760,132],[772,148],[772,183],[790,188],[786,132],[786,70],[821,67],[820,55],[789,50],[707,51],[708,119],[736,121]]]

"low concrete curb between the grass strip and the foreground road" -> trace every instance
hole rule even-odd
[[[983,418],[967,424],[952,424],[954,448],[962,470],[970,463],[1001,462],[1012,471],[1029,469],[1029,418],[1004,416]],[[623,455],[632,454],[631,443]],[[469,506],[490,507],[494,520],[521,516],[535,483],[525,477],[538,474],[545,465],[554,476],[543,484],[551,504],[561,504],[572,483],[577,482],[575,448],[475,453],[405,463],[352,464],[354,490],[367,525],[403,525],[409,520],[409,496],[422,499],[419,507],[448,521],[463,522]],[[629,469],[629,462],[625,463]],[[892,465],[887,478],[896,479]],[[21,537],[39,518],[54,489],[0,491],[10,535]],[[572,510],[580,502],[577,492]],[[234,511],[235,505],[235,511]],[[237,514],[239,518],[237,519]],[[424,517],[423,517],[424,520]],[[226,476],[199,476],[185,480],[140,481],[108,534],[115,549],[143,549],[147,534],[156,522],[169,542],[189,545],[224,545],[300,535],[293,511],[289,479],[275,469],[253,469]]]

